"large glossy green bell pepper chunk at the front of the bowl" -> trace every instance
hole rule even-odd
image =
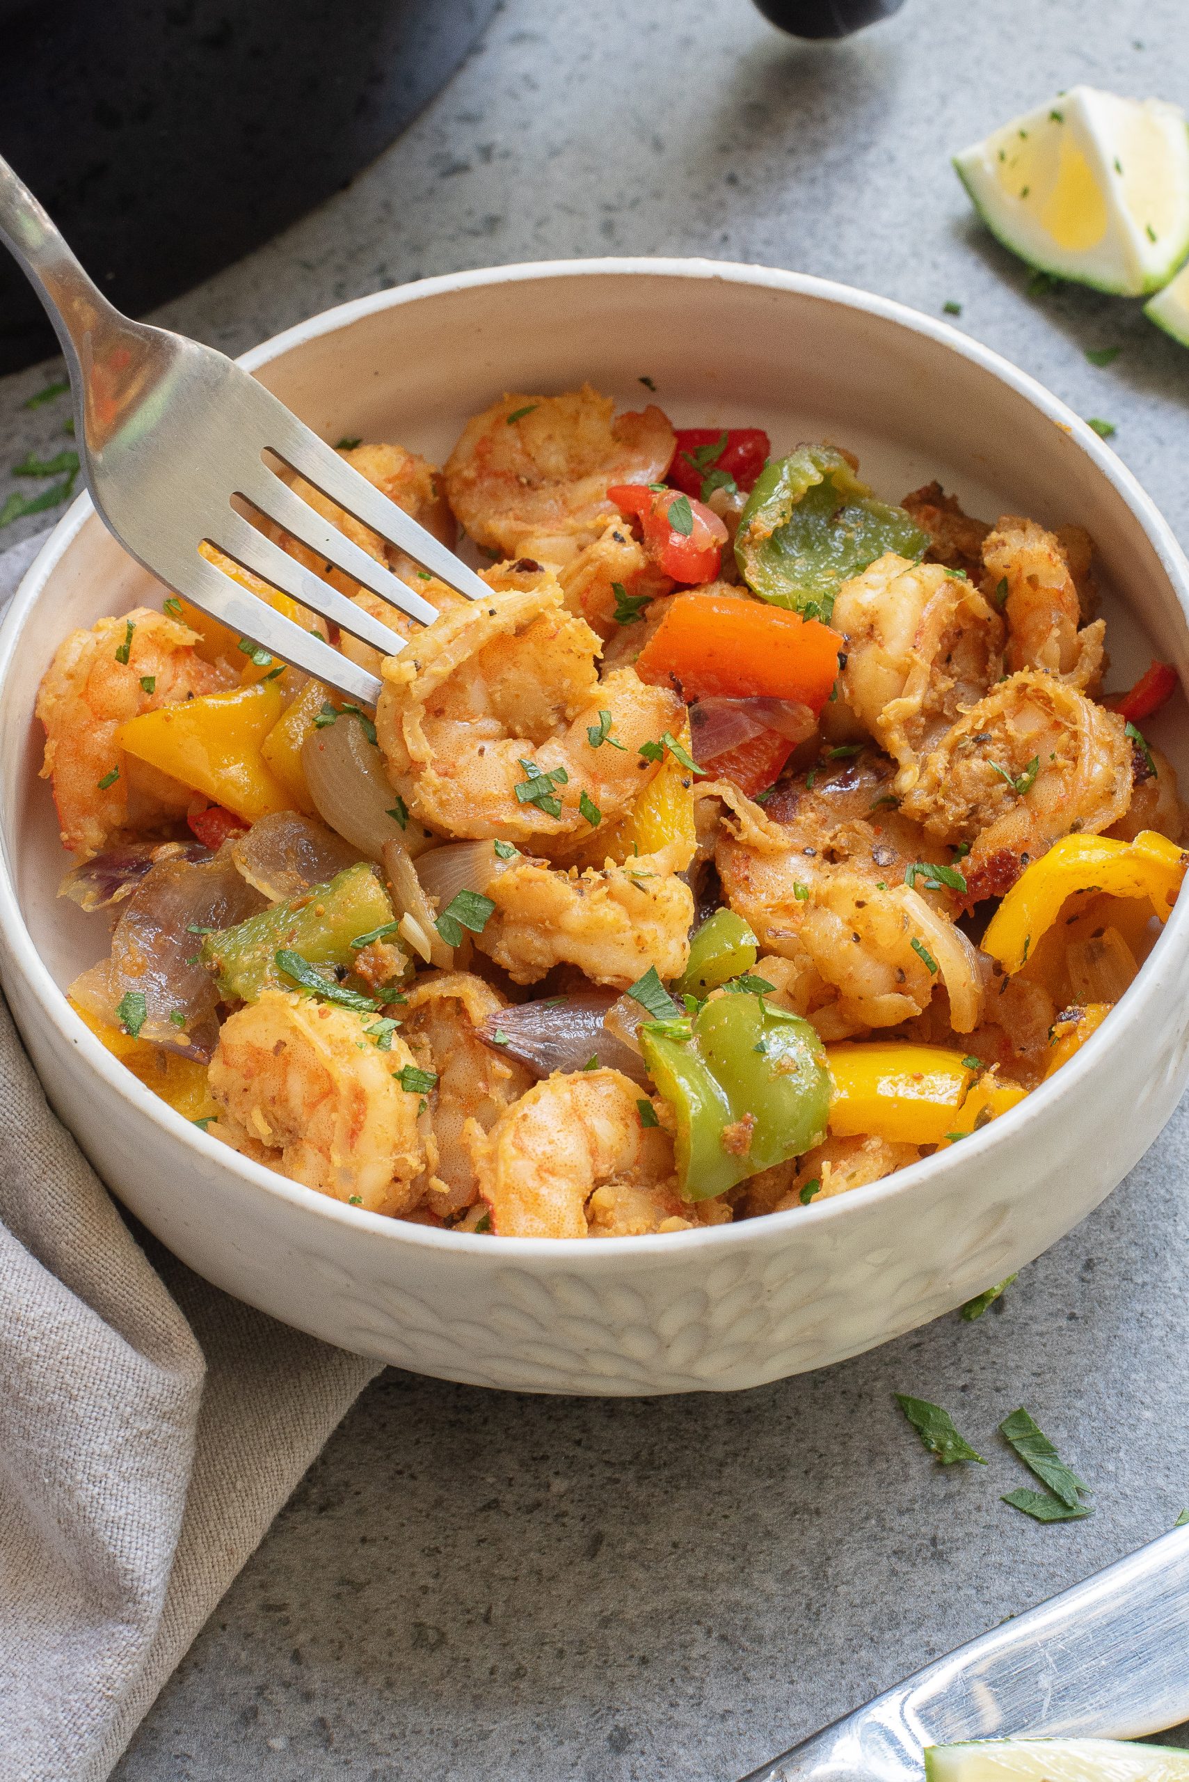
[[[762,996],[716,996],[692,1023],[646,1021],[641,1048],[676,1119],[685,1199],[714,1199],[826,1137],[826,1050],[808,1021]]]

